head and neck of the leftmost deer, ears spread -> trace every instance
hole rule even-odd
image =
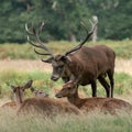
[[[24,91],[28,88],[32,87],[33,80],[29,80],[25,85],[23,86],[11,86],[11,89],[14,94],[15,100],[18,103],[22,103],[23,97],[24,97]]]

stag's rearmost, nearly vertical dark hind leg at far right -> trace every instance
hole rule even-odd
[[[111,97],[113,97],[113,87],[114,87],[113,74],[114,70],[108,70],[108,77],[110,79],[110,86],[111,86]]]

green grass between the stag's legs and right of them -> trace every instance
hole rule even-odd
[[[116,73],[114,74],[114,96],[129,96],[132,95],[132,76],[124,73]],[[109,79],[107,78],[108,82]],[[81,86],[80,86],[81,87]],[[91,87],[85,86],[81,87],[86,95],[91,96]],[[106,96],[105,88],[98,82],[97,86],[97,95]]]

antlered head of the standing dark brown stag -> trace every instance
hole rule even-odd
[[[28,36],[28,41],[30,44],[32,44],[35,47],[42,48],[44,50],[44,53],[41,53],[36,50],[34,50],[34,52],[38,55],[44,55],[44,56],[50,56],[47,59],[42,59],[42,62],[45,63],[50,63],[52,64],[53,67],[53,74],[51,76],[51,79],[56,81],[58,78],[61,78],[63,76],[63,74],[66,72],[67,69],[67,65],[70,63],[70,59],[68,57],[69,54],[75,53],[76,51],[78,51],[79,48],[81,48],[81,46],[87,42],[87,40],[92,35],[95,28],[97,25],[97,22],[92,25],[92,29],[90,32],[88,32],[86,25],[81,22],[81,25],[84,26],[84,29],[87,32],[87,35],[85,37],[85,40],[82,42],[80,42],[77,46],[73,47],[72,50],[65,52],[62,55],[54,55],[52,53],[52,51],[50,48],[46,47],[45,43],[43,43],[40,38],[40,33],[43,30],[45,23],[42,22],[37,29],[35,29],[34,26],[32,26],[32,29],[28,28],[28,24],[25,24],[25,30],[30,35],[33,35],[35,37],[35,42],[31,41],[30,37]]]

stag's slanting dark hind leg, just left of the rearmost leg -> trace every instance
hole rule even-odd
[[[107,80],[105,79],[103,76],[99,76],[98,77],[99,82],[103,86],[103,88],[106,89],[107,92],[107,97],[110,97],[110,85],[107,82]]]

